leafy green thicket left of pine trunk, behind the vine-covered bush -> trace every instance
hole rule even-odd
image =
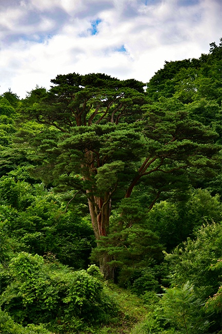
[[[39,255],[53,252],[64,264],[76,269],[87,267],[94,246],[93,231],[87,217],[81,217],[77,209],[65,213],[64,203],[48,192],[43,184],[30,185],[4,177],[0,183],[3,200],[7,204],[1,206],[5,229],[7,225],[4,247],[10,250],[14,244],[13,251],[26,250]],[[7,234],[14,242],[9,242]],[[15,240],[19,241],[15,243]],[[2,257],[8,258],[6,253]]]

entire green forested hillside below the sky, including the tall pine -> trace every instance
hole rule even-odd
[[[222,333],[221,51],[0,96],[1,333]]]

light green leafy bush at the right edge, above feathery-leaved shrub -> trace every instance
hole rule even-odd
[[[196,232],[196,239],[188,238],[172,254],[166,254],[171,270],[171,283],[181,287],[190,281],[193,291],[206,304],[205,319],[209,319],[211,331],[220,329],[221,317],[221,224],[203,225]]]

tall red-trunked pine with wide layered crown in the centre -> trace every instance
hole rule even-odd
[[[58,75],[51,82],[38,103],[22,109],[42,131],[21,132],[17,142],[29,146],[35,177],[87,198],[96,240],[109,235],[112,208],[139,182],[146,183],[152,209],[162,195],[184,192],[197,170],[209,176],[218,167],[217,134],[181,105],[147,100],[142,82],[101,73]],[[100,268],[108,277],[106,262],[107,256],[100,259]]]

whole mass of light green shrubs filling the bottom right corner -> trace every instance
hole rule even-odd
[[[201,227],[195,240],[188,239],[166,255],[173,287],[163,288],[165,293],[158,295],[159,300],[152,292],[145,293],[144,299],[151,311],[133,334],[219,332],[220,245],[221,225],[213,223]]]

